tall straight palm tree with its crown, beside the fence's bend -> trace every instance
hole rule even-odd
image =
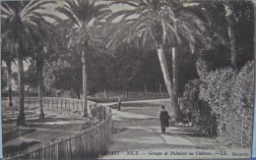
[[[94,45],[96,38],[96,26],[105,16],[110,13],[106,4],[96,4],[95,0],[68,0],[56,11],[66,15],[73,23],[71,28],[71,42],[81,48],[83,64],[83,109],[84,116],[88,116],[87,107],[87,56],[88,48]],[[70,21],[67,20],[67,21]]]

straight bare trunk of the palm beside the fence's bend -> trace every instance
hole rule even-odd
[[[83,111],[84,117],[88,117],[88,106],[87,106],[87,51],[86,47],[82,51],[82,64],[83,64]]]

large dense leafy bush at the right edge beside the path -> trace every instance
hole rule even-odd
[[[231,68],[211,72],[200,86],[199,99],[207,102],[217,115],[225,142],[240,146],[242,140],[243,146],[251,146],[253,78],[253,62],[249,62],[239,73]]]

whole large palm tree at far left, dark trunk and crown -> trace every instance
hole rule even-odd
[[[45,40],[43,26],[47,24],[44,18],[52,18],[52,15],[43,14],[45,5],[52,1],[10,1],[1,3],[1,21],[4,30],[2,38],[9,38],[14,47],[18,60],[18,80],[19,80],[19,115],[17,125],[25,125],[26,117],[24,111],[24,65],[23,60],[29,56],[28,48],[32,41]]]

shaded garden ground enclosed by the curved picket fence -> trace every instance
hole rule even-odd
[[[12,117],[12,113],[9,114],[2,119],[3,152],[19,151],[57,137],[65,138],[94,125],[89,118],[83,118],[80,112],[44,108],[45,119],[38,119],[36,109],[34,113],[26,114],[26,126],[18,127],[16,118]]]

